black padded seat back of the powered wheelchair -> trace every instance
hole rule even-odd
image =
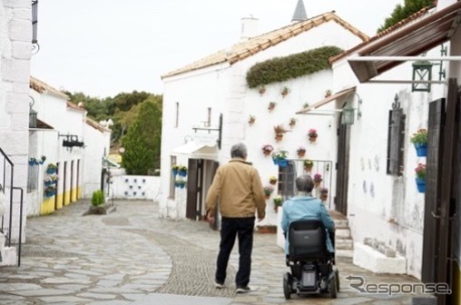
[[[289,224],[289,260],[323,261],[327,258],[327,231],[321,221]]]

